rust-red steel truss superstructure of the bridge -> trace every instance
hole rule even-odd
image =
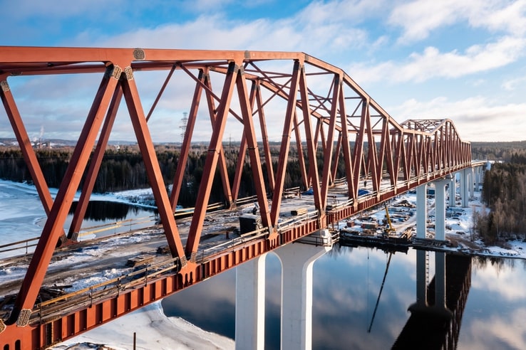
[[[19,110],[30,102],[24,99],[24,91],[18,90],[19,87],[27,79],[43,75],[71,78],[79,87],[98,80],[54,201],[26,131],[31,116]],[[43,78],[48,77],[40,77]],[[148,97],[141,98],[155,82],[157,92],[145,93]],[[4,349],[43,347],[84,332],[471,164],[470,144],[460,139],[452,121],[408,120],[398,124],[343,70],[305,53],[0,47],[0,85],[6,115],[48,215],[11,317],[0,322],[0,342],[7,346]],[[187,100],[184,104],[187,127],[172,181],[174,186],[167,194],[167,184],[155,156],[155,134],[150,129],[156,119],[161,119],[163,111],[158,106],[181,98]],[[66,101],[67,96],[60,96],[50,102],[60,105]],[[177,271],[140,289],[108,297],[96,307],[65,312],[60,319],[33,324],[29,319],[53,251],[59,242],[75,243],[114,123],[126,122],[127,118],[119,119],[119,112],[128,115],[127,123],[133,127]],[[190,233],[183,242],[173,213],[190,145],[202,142],[202,134],[197,135],[196,129],[207,124],[210,141],[203,177]],[[227,130],[230,134],[237,132],[240,139],[232,179],[227,173],[223,148],[225,138],[229,137],[225,134]],[[177,130],[174,132],[175,138]],[[279,141],[279,154],[271,153],[271,141]],[[239,200],[247,153],[266,234],[237,251],[197,260],[216,170],[221,177],[225,204],[233,208]],[[315,220],[305,221],[301,226],[280,230],[287,164],[292,160],[299,162],[304,188],[312,187],[317,215]],[[87,180],[83,182],[73,222],[65,229],[66,216],[84,174]],[[326,211],[329,189],[338,178],[346,181],[349,201]],[[368,189],[372,188],[371,196],[359,198],[359,189],[365,186],[365,181]]]

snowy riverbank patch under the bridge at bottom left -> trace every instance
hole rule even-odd
[[[206,332],[180,317],[166,317],[160,302],[149,304],[85,334],[53,346],[55,350],[85,349],[234,349],[234,340]]]

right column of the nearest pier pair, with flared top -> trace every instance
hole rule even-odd
[[[282,349],[312,347],[312,265],[329,250],[301,243],[274,250],[282,262]]]

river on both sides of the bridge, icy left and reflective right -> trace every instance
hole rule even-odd
[[[33,191],[9,185],[0,183],[2,243],[24,239],[16,235],[21,231],[38,233],[43,217]],[[133,207],[123,219],[145,215],[151,212]],[[416,250],[394,253],[390,260],[389,255],[374,248],[336,245],[316,260],[313,349],[391,349],[406,332],[408,308],[416,303]],[[435,253],[428,255],[432,280]],[[281,266],[273,253],[267,257],[266,275],[265,344],[266,349],[279,349]],[[450,335],[457,349],[526,349],[526,260],[473,258],[468,277],[465,307],[454,327],[460,331]],[[168,316],[233,339],[235,270],[165,298],[163,309]]]

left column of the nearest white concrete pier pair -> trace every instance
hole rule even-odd
[[[236,267],[236,349],[264,349],[265,259],[267,254]]]

